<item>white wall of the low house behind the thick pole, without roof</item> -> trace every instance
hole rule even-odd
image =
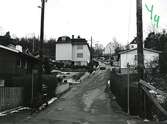
[[[146,63],[154,60],[154,58],[159,58],[159,54],[155,52],[144,50],[143,54],[145,66]],[[137,50],[121,54],[121,68],[127,68],[127,63],[129,63],[132,66],[137,66],[137,58],[135,59],[135,55],[137,55]]]

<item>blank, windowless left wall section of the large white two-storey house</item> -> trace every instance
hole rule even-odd
[[[72,44],[56,44],[56,60],[72,60]]]

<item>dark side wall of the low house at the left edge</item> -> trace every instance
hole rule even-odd
[[[13,75],[24,75],[37,68],[37,61],[15,52],[0,49],[0,78],[8,78]]]

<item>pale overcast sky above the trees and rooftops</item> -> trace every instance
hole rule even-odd
[[[153,29],[153,18],[160,16],[155,30],[167,29],[167,0],[143,0],[144,37]],[[40,34],[41,0],[0,0],[0,34],[13,37]],[[104,46],[113,38],[127,44],[136,36],[136,0],[48,0],[45,10],[45,39],[80,35]]]

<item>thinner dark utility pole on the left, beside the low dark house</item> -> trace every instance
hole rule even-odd
[[[45,2],[47,0],[41,0],[41,27],[40,27],[40,50],[39,50],[39,55],[40,55],[40,67],[39,67],[39,92],[42,90],[42,63],[43,63],[43,37],[44,37],[44,13],[45,13]]]

